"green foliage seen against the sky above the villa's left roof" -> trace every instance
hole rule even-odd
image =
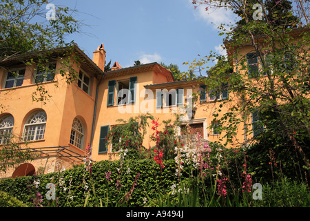
[[[3,0],[0,4],[0,57],[65,46],[65,36],[79,32],[76,10],[55,6],[54,20],[45,19],[48,1]]]

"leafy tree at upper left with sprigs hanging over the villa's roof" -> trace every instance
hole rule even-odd
[[[23,64],[37,64],[38,70],[45,70],[45,64],[51,57],[52,49],[66,47],[62,57],[63,66],[69,70],[68,84],[76,80],[71,68],[78,58],[72,56],[74,42],[66,42],[65,37],[80,32],[81,23],[74,19],[74,13],[68,7],[55,6],[46,0],[2,0],[0,3],[0,68],[10,71],[5,61],[23,55],[35,55],[36,59],[23,59]],[[63,71],[65,73],[65,71]],[[13,72],[14,75],[16,73]],[[44,85],[37,84],[37,93],[32,95],[36,101],[49,97]]]

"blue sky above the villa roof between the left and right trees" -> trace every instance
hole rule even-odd
[[[71,35],[79,48],[92,59],[92,52],[103,43],[107,61],[118,61],[123,68],[134,61],[177,64],[198,55],[220,51],[223,37],[213,23],[234,21],[231,12],[194,10],[191,0],[54,0],[56,6],[76,8],[74,17],[83,21],[79,35]]]

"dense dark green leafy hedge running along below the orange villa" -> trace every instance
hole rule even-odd
[[[171,191],[172,184],[178,182],[178,177],[175,175],[176,168],[174,160],[167,160],[164,164],[165,168],[161,173],[161,169],[154,160],[125,161],[119,174],[117,170],[121,168],[119,161],[96,162],[92,165],[92,180],[96,195],[104,201],[107,198],[107,189],[109,189],[112,199],[110,201],[116,204],[117,200],[130,192],[136,175],[140,173],[137,185],[126,206],[146,206],[147,204],[145,205],[143,203],[145,197],[156,198],[158,191]],[[130,173],[127,173],[127,167],[130,168]],[[112,180],[110,180],[108,184],[109,188],[107,188],[105,173],[109,171],[111,171],[110,179]],[[64,183],[62,186],[59,182],[60,177]],[[188,175],[183,173],[183,177],[186,179]],[[34,180],[40,180],[37,189],[33,184]],[[68,169],[62,173],[49,173],[47,175],[1,180],[0,191],[14,195],[18,200],[28,204],[28,206],[33,206],[33,200],[36,198],[35,194],[39,192],[42,195],[43,206],[49,206],[52,204],[52,201],[46,200],[45,198],[45,194],[48,192],[45,186],[48,183],[53,183],[56,184],[56,198],[58,198],[56,203],[58,206],[84,206],[87,191],[85,191],[83,180],[85,180],[88,186],[87,190],[91,190],[88,200],[88,205],[91,206],[95,199],[92,192],[92,184],[90,184],[90,175],[85,173],[83,164],[74,166],[73,169]],[[116,189],[117,180],[122,185],[119,191]],[[71,191],[71,194],[69,191]],[[68,195],[73,195],[73,199],[68,198]],[[113,206],[113,204],[109,206]]]

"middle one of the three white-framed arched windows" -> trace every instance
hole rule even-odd
[[[25,128],[23,130],[23,140],[42,140],[45,133],[46,124],[46,113],[45,111],[36,111],[30,115],[25,122]]]

